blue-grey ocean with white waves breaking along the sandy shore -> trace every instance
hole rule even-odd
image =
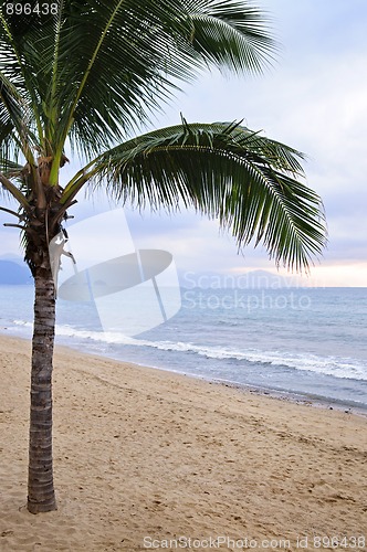
[[[172,318],[103,332],[92,304],[57,301],[56,342],[264,392],[367,408],[367,288],[181,288]],[[31,337],[32,286],[0,286],[3,333]]]

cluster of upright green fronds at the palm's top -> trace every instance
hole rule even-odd
[[[61,156],[67,135],[73,148],[95,156],[147,121],[174,83],[212,64],[258,72],[275,47],[247,0],[52,3],[49,15],[2,8],[0,18],[0,71],[32,106],[48,156]]]

